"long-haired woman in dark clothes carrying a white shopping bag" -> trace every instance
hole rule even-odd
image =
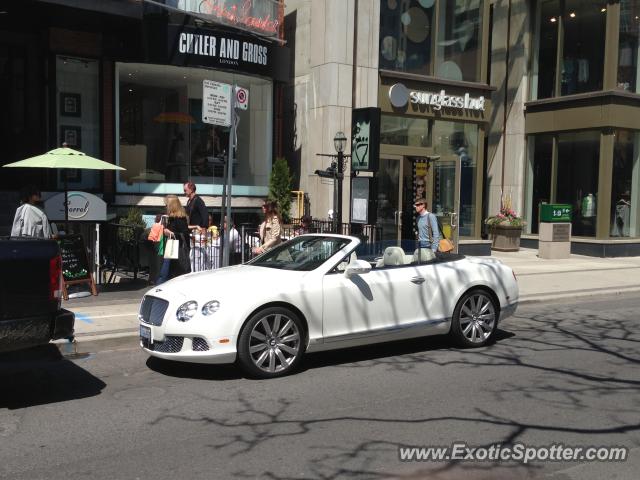
[[[187,223],[187,212],[180,204],[176,195],[167,195],[165,199],[167,205],[167,223],[164,227],[164,258],[160,275],[156,284],[161,284],[170,278],[189,273],[189,225]],[[159,254],[160,252],[158,252]]]

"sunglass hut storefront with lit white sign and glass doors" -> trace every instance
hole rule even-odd
[[[380,72],[377,222],[386,239],[414,237],[414,203],[426,198],[460,252],[490,254],[480,235],[491,91],[471,82]]]

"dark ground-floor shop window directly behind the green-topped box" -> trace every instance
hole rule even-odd
[[[556,203],[573,206],[572,235],[594,237],[598,214],[600,132],[558,135]]]

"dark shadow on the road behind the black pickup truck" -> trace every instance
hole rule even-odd
[[[52,344],[0,354],[0,385],[8,409],[93,397],[106,386]]]

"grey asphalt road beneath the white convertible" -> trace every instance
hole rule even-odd
[[[490,347],[310,356],[252,381],[137,349],[0,357],[0,478],[590,478],[640,469],[640,299],[531,304]],[[398,447],[623,445],[624,463],[404,463]]]

